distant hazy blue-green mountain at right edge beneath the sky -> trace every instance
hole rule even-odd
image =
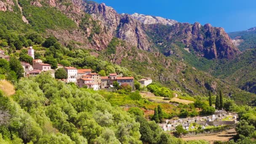
[[[245,31],[229,32],[228,34],[240,51],[256,48],[256,27],[252,27]]]

